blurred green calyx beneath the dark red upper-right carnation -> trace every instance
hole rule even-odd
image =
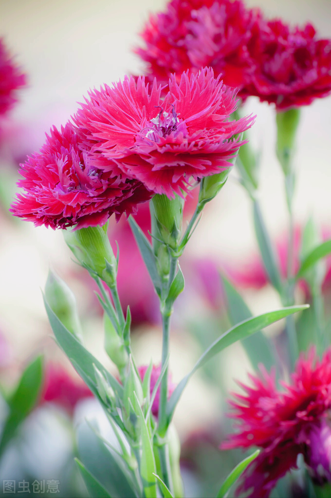
[[[295,108],[285,112],[278,112],[276,116],[276,153],[286,176],[289,176],[291,173],[293,147],[299,120],[300,109]]]

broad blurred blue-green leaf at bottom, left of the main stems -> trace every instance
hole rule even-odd
[[[125,468],[122,459],[112,452],[88,422],[77,428],[78,454],[88,472],[113,498],[135,498],[132,473]]]

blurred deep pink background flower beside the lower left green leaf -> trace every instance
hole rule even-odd
[[[52,402],[72,414],[76,404],[83,398],[93,396],[88,386],[74,378],[61,365],[49,363],[45,369],[41,403]]]

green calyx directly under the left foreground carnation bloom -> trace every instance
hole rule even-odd
[[[110,287],[116,282],[117,261],[107,235],[108,223],[100,227],[64,231],[64,239],[80,263]]]

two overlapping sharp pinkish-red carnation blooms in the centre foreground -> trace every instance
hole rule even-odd
[[[21,166],[24,179],[11,212],[36,226],[104,225],[130,214],[153,194],[174,197],[227,169],[254,119],[229,121],[235,91],[211,68],[172,75],[169,91],[126,77],[89,93],[61,131]]]

